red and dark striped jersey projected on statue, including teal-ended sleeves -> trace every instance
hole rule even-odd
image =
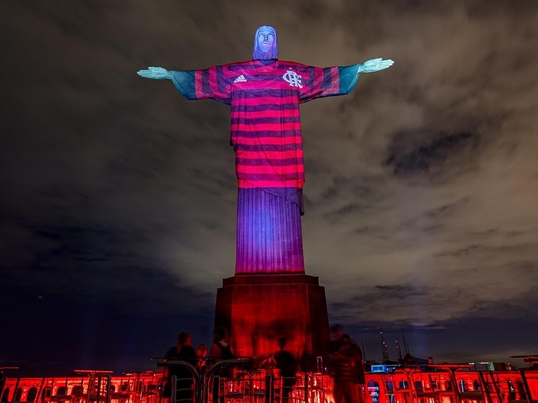
[[[240,188],[299,188],[305,183],[299,104],[349,93],[357,65],[311,67],[259,60],[172,71],[187,99],[231,105],[230,142]]]

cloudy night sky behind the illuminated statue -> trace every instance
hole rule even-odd
[[[147,66],[279,57],[393,67],[301,106],[307,274],[380,359],[538,352],[538,3],[30,1],[2,5],[0,365],[154,368],[209,343],[235,267],[229,107]],[[518,361],[514,361],[518,363]]]

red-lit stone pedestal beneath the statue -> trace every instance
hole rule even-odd
[[[236,356],[266,358],[287,340],[302,370],[315,368],[330,340],[325,289],[305,274],[237,275],[217,290],[215,328],[224,328]]]

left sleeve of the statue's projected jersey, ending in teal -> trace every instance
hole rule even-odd
[[[203,70],[171,70],[175,88],[186,99],[214,99],[230,105],[230,83],[225,79],[225,66]]]

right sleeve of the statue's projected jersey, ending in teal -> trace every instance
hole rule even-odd
[[[302,86],[300,102],[350,93],[359,80],[358,67],[358,64],[345,67],[307,67],[310,83]]]

